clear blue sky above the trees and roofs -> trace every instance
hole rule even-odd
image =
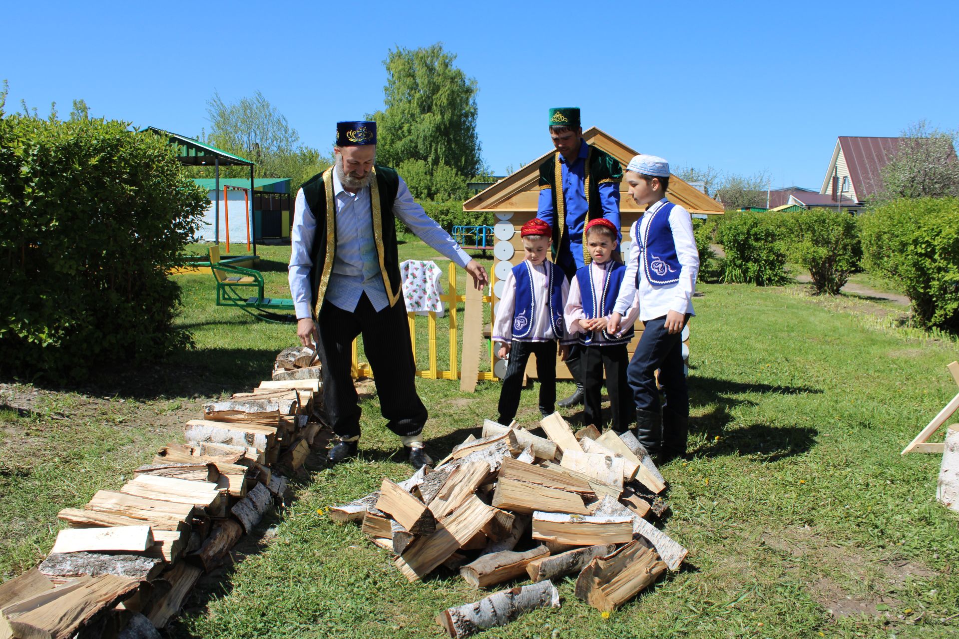
[[[335,4],[335,6],[333,6]],[[388,49],[441,41],[479,83],[498,173],[550,149],[550,106],[674,166],[818,189],[838,135],[959,127],[955,3],[5,3],[8,110],[75,98],[186,135],[260,90],[328,148],[383,106]],[[214,53],[214,52],[217,53]],[[222,52],[222,53],[219,53]]]

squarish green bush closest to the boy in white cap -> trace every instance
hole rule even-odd
[[[716,240],[726,252],[720,280],[760,286],[787,283],[782,234],[782,224],[775,215],[727,213],[716,230]]]

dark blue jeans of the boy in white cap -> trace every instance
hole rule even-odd
[[[686,315],[686,322],[690,315]],[[669,334],[666,315],[645,323],[636,353],[626,368],[626,379],[633,389],[636,409],[659,413],[660,392],[656,388],[656,369],[669,410],[682,418],[690,417],[690,394],[683,373],[682,333]]]

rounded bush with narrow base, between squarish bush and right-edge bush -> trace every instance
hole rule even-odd
[[[810,209],[785,214],[782,224],[787,255],[808,269],[816,293],[838,294],[862,257],[853,216]]]

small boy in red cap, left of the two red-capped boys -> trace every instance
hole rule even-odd
[[[500,391],[499,422],[508,424],[520,407],[520,389],[530,354],[536,355],[536,377],[540,383],[539,409],[551,415],[556,401],[556,342],[560,357],[566,358],[569,344],[563,326],[563,308],[569,284],[563,271],[547,260],[552,244],[550,225],[538,217],[520,231],[526,258],[513,266],[503,281],[503,296],[493,324],[493,341],[500,343],[498,355],[509,358]]]

